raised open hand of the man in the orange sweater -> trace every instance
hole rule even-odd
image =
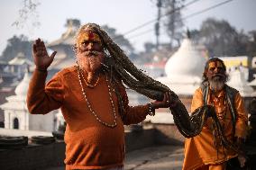
[[[37,39],[34,41],[32,45],[32,57],[34,60],[34,64],[37,69],[46,71],[50,64],[53,61],[57,51],[54,51],[50,56],[46,50],[44,42],[41,39]]]

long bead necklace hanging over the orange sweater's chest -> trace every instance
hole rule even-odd
[[[87,101],[87,106],[88,106],[90,112],[95,116],[96,121],[102,123],[102,124],[105,125],[106,127],[114,128],[114,127],[117,125],[117,123],[116,123],[116,113],[115,113],[115,109],[114,109],[114,102],[113,102],[113,99],[112,99],[111,88],[110,88],[110,85],[109,85],[109,83],[108,83],[108,79],[107,79],[106,74],[105,74],[105,81],[106,81],[106,85],[107,85],[107,87],[108,87],[109,100],[110,100],[110,103],[111,103],[111,105],[112,105],[112,108],[113,108],[113,115],[114,115],[114,123],[113,123],[113,124],[109,124],[109,123],[107,123],[107,122],[105,122],[105,121],[101,121],[101,120],[99,119],[99,117],[97,116],[96,112],[93,110],[91,104],[89,103],[89,101],[88,101],[88,99],[87,99],[86,91],[85,91],[85,89],[84,89],[84,87],[83,87],[83,85],[82,85],[81,76],[82,76],[83,79],[84,79],[84,76],[83,76],[83,74],[80,73],[79,66],[77,66],[77,69],[78,69],[78,79],[79,79],[79,84],[80,84],[81,89],[82,89],[82,94],[84,95],[84,97],[85,97],[85,99],[86,99],[86,101]]]

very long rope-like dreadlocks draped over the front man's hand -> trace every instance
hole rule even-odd
[[[208,114],[206,112],[214,112],[212,106],[204,105],[189,117],[186,107],[180,102],[178,95],[171,91],[167,85],[161,84],[135,67],[133,62],[124,54],[123,50],[114,43],[114,40],[99,25],[96,23],[87,23],[80,28],[77,36],[83,30],[94,31],[100,36],[106,53],[105,67],[103,69],[109,76],[113,77],[113,82],[121,79],[125,85],[134,91],[158,101],[162,100],[165,92],[170,92],[176,106],[169,109],[173,114],[174,121],[180,133],[186,138],[191,138],[201,132],[204,122],[207,119]],[[118,93],[118,90],[115,89],[115,91]],[[119,99],[118,102],[119,105],[122,105],[122,100]]]

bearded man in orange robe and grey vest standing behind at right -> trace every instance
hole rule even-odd
[[[247,157],[242,143],[247,135],[247,112],[242,96],[226,85],[226,81],[224,61],[210,58],[206,62],[202,85],[193,95],[191,112],[200,106],[212,105],[222,134],[217,133],[213,118],[209,117],[200,134],[185,141],[183,170],[225,170],[245,166]]]

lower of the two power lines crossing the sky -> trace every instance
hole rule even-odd
[[[219,7],[219,6],[223,5],[223,4],[230,3],[231,1],[233,1],[233,0],[227,0],[227,1],[224,1],[224,2],[219,3],[219,4],[215,4],[215,5],[213,5],[213,6],[210,6],[210,7],[206,8],[206,9],[203,9],[203,10],[198,11],[198,12],[196,12],[196,13],[191,13],[191,14],[187,15],[186,17],[183,17],[183,18],[181,18],[181,19],[179,19],[179,20],[177,20],[177,21],[175,21],[175,22],[179,22],[179,21],[186,20],[187,18],[196,16],[197,14],[206,13],[206,12],[209,11],[209,10],[212,10],[212,9],[214,9],[214,8],[216,8],[216,7]],[[143,35],[143,34],[146,34],[146,33],[148,33],[148,32],[151,32],[151,31],[154,31],[154,30],[151,29],[151,30],[148,30],[148,31],[143,31],[143,32],[141,32],[141,33],[138,33],[138,34],[135,34],[135,35],[133,35],[133,36],[131,36],[131,37],[128,37],[127,39],[133,39],[133,38],[139,37],[139,36],[141,36],[141,35]]]

